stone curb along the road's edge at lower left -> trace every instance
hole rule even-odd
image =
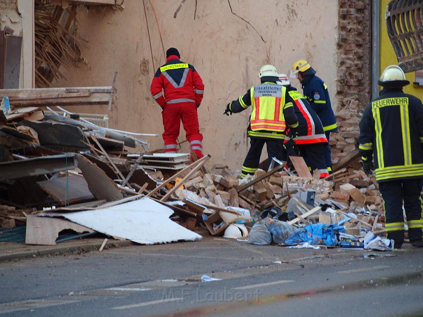
[[[109,246],[112,246],[113,244],[117,244],[119,247],[135,245],[130,240],[111,240],[111,241],[107,241],[105,246],[109,247]],[[102,246],[102,243],[80,244],[80,245],[65,246],[65,247],[54,248],[54,249],[41,249],[36,251],[0,254],[0,262],[7,261],[7,260],[24,259],[28,257],[52,255],[56,253],[68,253],[68,252],[77,251],[80,249],[83,249],[84,251],[95,251],[95,250],[98,251],[101,246]]]

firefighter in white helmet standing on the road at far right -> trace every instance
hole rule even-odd
[[[385,208],[385,229],[395,247],[404,242],[404,209],[413,246],[423,246],[423,105],[403,93],[410,84],[403,70],[388,66],[379,80],[380,96],[364,110],[359,151],[370,174],[374,154],[376,180]]]

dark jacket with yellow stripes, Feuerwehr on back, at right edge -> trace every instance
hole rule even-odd
[[[384,89],[364,110],[359,152],[375,156],[378,182],[423,177],[423,105],[400,89]]]

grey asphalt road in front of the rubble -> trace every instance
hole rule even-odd
[[[423,316],[423,248],[223,238],[0,263],[0,316]],[[220,280],[201,282],[201,276]]]

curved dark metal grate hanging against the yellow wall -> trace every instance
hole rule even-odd
[[[423,69],[423,0],[392,0],[386,28],[404,72]]]

